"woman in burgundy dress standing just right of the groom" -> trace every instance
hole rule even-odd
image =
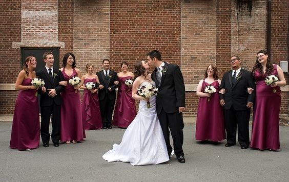
[[[200,97],[197,112],[196,140],[202,143],[211,140],[213,144],[225,139],[225,124],[223,110],[219,103],[219,86],[221,80],[218,79],[218,71],[215,66],[208,66],[204,73],[204,78],[197,86],[197,96]],[[213,86],[215,93],[204,93],[205,86]],[[220,91],[220,93],[223,93]]]

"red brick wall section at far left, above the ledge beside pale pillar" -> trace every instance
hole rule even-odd
[[[15,83],[21,69],[20,51],[12,48],[21,38],[21,1],[0,2],[0,84]],[[2,100],[1,100],[2,103]]]

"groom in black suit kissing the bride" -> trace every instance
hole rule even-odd
[[[159,51],[154,50],[147,54],[148,64],[155,68],[151,77],[156,83],[158,94],[156,110],[164,139],[171,157],[170,131],[174,142],[174,152],[180,163],[185,163],[182,150],[183,119],[182,112],[185,107],[185,89],[180,68],[161,60]],[[170,128],[170,130],[169,130]]]

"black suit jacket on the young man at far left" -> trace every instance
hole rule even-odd
[[[64,80],[62,72],[60,70],[53,69],[53,83],[51,83],[51,80],[49,79],[46,68],[37,71],[36,76],[44,80],[44,87],[47,89],[45,93],[42,93],[41,90],[38,90],[38,93],[40,94],[40,106],[52,106],[53,103],[55,103],[56,105],[60,105],[60,92],[64,89],[62,86],[59,85],[59,82]],[[55,89],[57,95],[55,97],[49,96],[48,89]]]

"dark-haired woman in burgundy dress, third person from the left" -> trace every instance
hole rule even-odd
[[[80,87],[73,87],[69,84],[69,79],[72,76],[80,77],[80,71],[76,67],[75,56],[72,53],[66,53],[63,58],[63,68],[60,69],[64,76],[64,81],[59,82],[60,85],[65,86],[64,91],[61,92],[61,130],[60,141],[66,144],[76,144],[85,137],[85,132],[82,126],[80,95],[78,89]],[[77,90],[77,91],[75,91]]]

